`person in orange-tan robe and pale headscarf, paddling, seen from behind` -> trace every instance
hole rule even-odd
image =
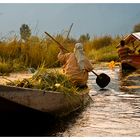
[[[74,52],[64,53],[60,49],[58,60],[63,64],[63,73],[79,88],[87,88],[88,72],[93,70],[83,51],[83,44],[76,43]]]

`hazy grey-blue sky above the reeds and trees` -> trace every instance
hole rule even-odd
[[[79,37],[124,35],[140,23],[140,3],[0,3],[0,38],[19,34],[22,24],[28,24],[32,34],[44,36],[44,31],[54,35],[67,34]]]

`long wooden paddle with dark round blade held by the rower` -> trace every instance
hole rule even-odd
[[[67,52],[69,52],[67,49],[65,49],[56,39],[54,39],[49,33],[47,33],[47,32],[45,32],[45,34],[47,34],[53,41],[55,41],[58,45],[59,45],[59,47],[60,47],[60,49],[64,49],[64,50],[66,50]],[[94,73],[96,76],[97,76],[97,78],[96,78],[96,83],[97,83],[97,85],[100,87],[100,88],[104,88],[104,87],[106,87],[108,84],[109,84],[109,82],[110,82],[110,77],[107,75],[107,74],[105,74],[105,73],[101,73],[101,74],[97,74],[97,73],[95,73],[93,70],[92,70],[92,73]]]

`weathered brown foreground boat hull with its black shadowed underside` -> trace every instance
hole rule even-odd
[[[47,135],[59,120],[90,102],[88,93],[89,89],[74,94],[0,85],[0,136]]]

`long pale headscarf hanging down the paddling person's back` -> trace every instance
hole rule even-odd
[[[80,67],[80,70],[83,70],[84,69],[84,51],[83,51],[82,43],[75,44],[74,55],[77,59],[77,63]]]

